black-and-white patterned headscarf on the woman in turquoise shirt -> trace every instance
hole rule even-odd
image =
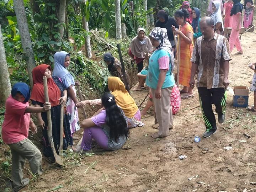
[[[155,27],[150,33],[149,37],[154,38],[160,44],[156,49],[164,49],[170,54],[170,62],[172,63],[172,69],[174,69],[174,55],[172,53],[172,46],[167,36],[166,28]]]

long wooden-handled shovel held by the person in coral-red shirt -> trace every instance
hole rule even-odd
[[[48,96],[48,85],[47,85],[47,78],[46,76],[43,76],[43,84],[44,84],[44,100],[45,102],[49,102],[49,96]],[[47,111],[47,121],[48,121],[48,127],[47,127],[47,132],[48,132],[48,140],[50,142],[52,151],[53,151],[53,155],[55,158],[55,161],[59,164],[59,165],[63,165],[62,163],[62,159],[60,158],[60,156],[56,153],[54,144],[53,144],[53,137],[52,137],[52,117],[51,117],[51,113],[50,110]]]

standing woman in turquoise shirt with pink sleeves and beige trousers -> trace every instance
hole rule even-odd
[[[152,137],[166,137],[173,126],[170,96],[175,84],[172,73],[174,56],[166,28],[155,27],[150,32],[149,38],[156,50],[149,58],[146,85],[150,87],[153,95],[156,118],[159,123],[159,131]]]

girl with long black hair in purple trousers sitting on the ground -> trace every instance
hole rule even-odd
[[[77,153],[90,150],[92,139],[105,150],[120,149],[130,135],[123,110],[117,106],[114,96],[107,92],[101,101],[104,108],[81,123],[84,128],[82,143],[73,147]]]

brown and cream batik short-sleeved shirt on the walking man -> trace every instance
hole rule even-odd
[[[198,65],[197,87],[224,87],[223,65],[230,60],[229,43],[224,36],[215,33],[210,41],[204,36],[197,38],[191,58],[191,62]]]

